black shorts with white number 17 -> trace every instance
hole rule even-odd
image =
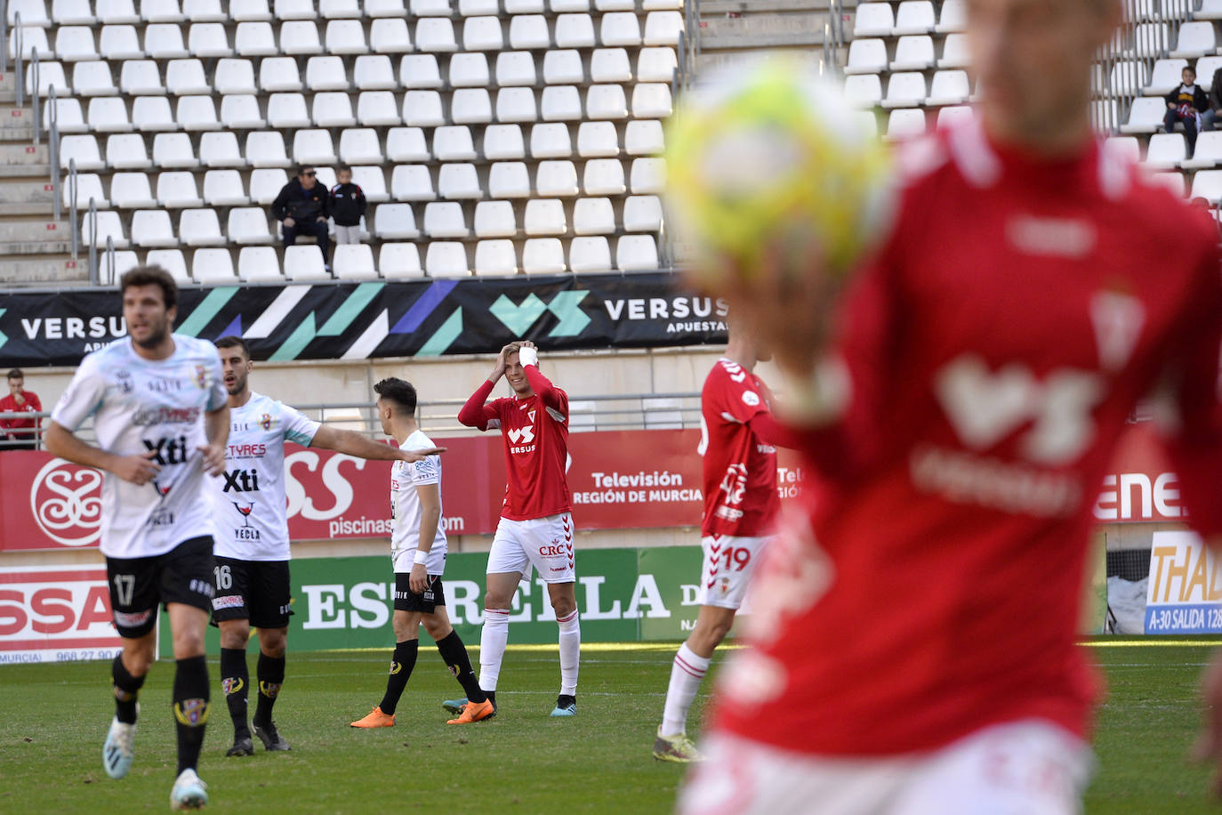
[[[209,611],[214,591],[213,539],[192,538],[152,557],[108,557],[106,584],[115,628],[127,639],[153,630],[159,604],[181,602]]]

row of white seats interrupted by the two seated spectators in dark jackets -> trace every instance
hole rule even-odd
[[[156,206],[152,198],[130,198],[133,206]],[[98,237],[105,243],[114,237],[120,244],[139,247],[264,244],[279,241],[279,235],[268,227],[268,213],[258,206],[235,205],[229,210],[227,228],[222,235],[218,210],[204,208],[202,202],[194,208],[182,209],[175,231],[171,215],[165,209],[137,209],[131,216],[131,228],[125,237],[123,222],[119,213],[98,213]],[[246,202],[241,202],[246,203]],[[221,204],[229,205],[229,204]],[[474,213],[468,220],[468,213]],[[656,196],[632,196],[620,208],[624,232],[657,232],[661,228],[662,208]],[[572,214],[572,230],[568,216]],[[518,227],[519,214],[522,228]],[[508,200],[479,202],[474,209],[458,202],[433,202],[423,210],[423,233],[417,228],[415,215],[409,204],[378,204],[367,220],[364,236],[384,241],[429,238],[496,238],[540,237],[566,235],[616,235],[616,206],[610,198],[579,198],[572,206],[565,206],[555,198],[532,198],[525,206],[514,206]],[[82,235],[88,243],[93,235],[88,214],[81,216]],[[373,224],[373,226],[368,226]],[[279,231],[279,225],[277,231]]]

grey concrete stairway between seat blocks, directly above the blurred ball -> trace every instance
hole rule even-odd
[[[747,53],[777,49],[818,66],[829,5],[827,0],[703,0],[697,73]]]

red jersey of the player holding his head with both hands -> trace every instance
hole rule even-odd
[[[500,428],[505,437],[505,505],[501,517],[527,521],[569,512],[568,395],[534,365],[525,365],[534,396],[492,400],[492,382],[484,381],[458,420],[468,428]]]

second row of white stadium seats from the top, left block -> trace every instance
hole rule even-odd
[[[554,18],[544,15],[467,17],[461,32],[448,17],[420,17],[409,29],[398,17],[379,17],[365,26],[359,20],[332,20],[324,34],[309,20],[293,20],[274,27],[266,22],[238,23],[230,42],[222,23],[191,23],[183,39],[178,23],[149,23],[144,27],[143,44],[136,26],[103,26],[94,39],[90,26],[60,26],[55,29],[54,48],[44,28],[23,24],[21,49],[28,57],[38,50],[44,59],[55,56],[64,62],[97,60],[176,60],[188,56],[216,59],[229,56],[288,56],[310,54],[402,54],[408,51],[500,51],[547,50],[576,48],[615,48],[639,45],[675,45],[683,33],[679,11],[650,11],[644,24],[632,11],[607,11],[599,17],[595,34],[594,16],[563,13]],[[16,56],[18,29],[9,39],[9,53]]]

